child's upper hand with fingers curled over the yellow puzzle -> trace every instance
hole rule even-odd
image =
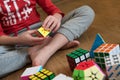
[[[55,32],[59,29],[61,25],[62,16],[59,13],[55,13],[54,15],[49,15],[43,22],[43,27],[46,30],[51,30]]]

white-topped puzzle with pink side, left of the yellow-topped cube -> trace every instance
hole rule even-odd
[[[21,75],[21,80],[29,80],[29,76],[42,70],[42,66],[30,67],[27,68]]]

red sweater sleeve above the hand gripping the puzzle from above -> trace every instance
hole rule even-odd
[[[38,5],[48,14],[53,15],[54,13],[60,13],[62,16],[64,16],[64,13],[57,8],[51,0],[36,0]]]

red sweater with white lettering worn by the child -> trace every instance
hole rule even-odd
[[[0,0],[0,36],[39,22],[36,4],[48,15],[62,13],[51,0]]]

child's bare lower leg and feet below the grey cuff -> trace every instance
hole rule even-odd
[[[67,45],[66,45],[67,44]],[[65,46],[64,46],[65,45]],[[33,66],[44,66],[48,59],[60,48],[67,49],[78,46],[78,41],[69,42],[62,34],[56,34],[50,41],[46,42],[44,46],[34,46],[29,48],[29,55]]]

